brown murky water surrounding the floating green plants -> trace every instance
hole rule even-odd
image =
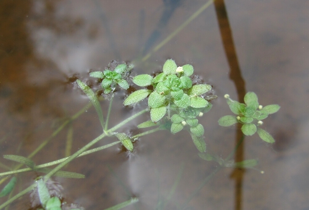
[[[28,156],[88,103],[74,83],[76,78],[95,87],[90,71],[103,70],[112,60],[141,57],[204,4],[197,0],[0,1],[0,154]],[[217,0],[134,68],[139,74],[151,74],[172,58],[179,65],[192,64],[213,85],[218,98],[199,122],[208,149],[223,158],[234,147],[237,132],[236,127],[217,123],[230,114],[224,94],[237,99],[244,91],[253,91],[260,104],[281,106],[263,125],[276,143],[268,145],[255,134],[245,139],[238,154],[238,158],[259,159],[257,168],[265,173],[223,169],[187,209],[309,209],[308,6],[304,0],[226,1],[225,5]],[[160,36],[148,41],[154,30]],[[236,74],[236,85],[230,72]],[[143,109],[123,108],[124,96],[118,93],[114,99],[110,125]],[[106,115],[108,101],[101,104]],[[136,125],[148,119],[145,114],[120,131],[136,134]],[[92,107],[71,125],[72,152],[102,131]],[[69,127],[32,158],[36,164],[64,157]],[[104,138],[96,146],[115,140]],[[118,145],[71,162],[64,170],[86,178],[55,178],[64,187],[65,201],[89,210],[105,209],[137,196],[140,202],[125,209],[155,209],[183,164],[180,183],[165,208],[177,209],[217,167],[198,157],[185,132],[150,134],[135,146],[129,157]],[[6,159],[0,162],[13,167]],[[19,174],[14,194],[38,175]],[[9,209],[30,207],[27,194]]]

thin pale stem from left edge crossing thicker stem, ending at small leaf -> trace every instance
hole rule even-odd
[[[83,152],[82,154],[78,155],[78,157],[81,157],[81,156],[84,156],[84,155],[87,155],[87,154],[91,154],[91,153],[97,152],[99,150],[104,150],[104,149],[111,147],[111,146],[114,146],[114,145],[116,145],[120,142],[121,141],[116,141],[116,142],[112,142],[112,143],[104,145],[104,146],[99,146],[97,148],[87,150],[87,151]],[[45,167],[57,165],[59,163],[62,163],[63,161],[65,161],[68,158],[69,157],[66,157],[66,158],[62,158],[62,159],[59,159],[59,160],[55,160],[55,161],[50,162],[50,163],[44,163],[44,164],[41,164],[41,165],[37,165],[37,166],[34,167],[34,170],[38,169],[38,168],[45,168]],[[17,173],[22,173],[22,172],[27,172],[27,171],[33,171],[33,169],[32,168],[23,168],[23,169],[19,169],[19,170],[15,170],[15,171],[8,171],[8,172],[0,173],[0,176],[17,174]]]

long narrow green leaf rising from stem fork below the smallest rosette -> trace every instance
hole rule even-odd
[[[78,86],[80,87],[80,89],[82,89],[83,92],[86,93],[86,95],[88,96],[89,100],[91,101],[92,105],[95,108],[95,111],[98,114],[101,126],[104,128],[104,118],[103,118],[102,108],[101,108],[101,105],[95,93],[91,90],[91,88],[88,87],[87,84],[83,83],[81,80],[76,80],[76,82]]]

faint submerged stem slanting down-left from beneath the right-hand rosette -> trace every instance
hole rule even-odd
[[[231,157],[235,154],[236,150],[238,149],[238,147],[241,145],[241,143],[243,142],[243,139],[245,138],[245,135],[243,134],[243,136],[239,139],[238,143],[236,144],[236,146],[234,147],[234,149],[230,152],[230,154],[226,157],[226,159],[224,159],[224,162],[229,161],[231,159]],[[207,184],[209,182],[209,180],[211,178],[214,177],[214,175],[220,171],[223,168],[223,165],[219,165],[213,172],[211,172],[210,175],[208,175],[204,181],[201,183],[201,185],[195,189],[195,191],[188,197],[188,199],[186,200],[186,202],[184,202],[182,208],[180,209],[184,209],[188,203],[193,199],[193,197],[195,197],[198,192],[205,186],[205,184]]]

